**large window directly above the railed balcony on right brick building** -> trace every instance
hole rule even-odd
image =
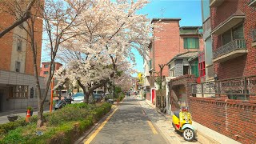
[[[222,46],[235,39],[244,39],[243,25],[238,25],[222,34]]]

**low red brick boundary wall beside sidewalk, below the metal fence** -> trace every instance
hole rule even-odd
[[[238,142],[256,142],[256,101],[190,97],[190,112],[193,121],[211,130]]]

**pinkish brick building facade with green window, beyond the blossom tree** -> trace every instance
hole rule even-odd
[[[202,26],[179,26],[181,18],[153,18],[154,40],[151,42],[150,70],[150,99],[154,103],[155,78],[160,76],[160,66],[166,65],[177,54],[188,51],[199,51],[203,48],[200,30]],[[164,66],[163,77],[169,77],[170,70]],[[164,79],[164,78],[163,78]],[[170,78],[169,78],[170,79]],[[166,93],[167,96],[168,92]]]

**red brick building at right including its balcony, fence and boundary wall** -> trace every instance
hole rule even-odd
[[[192,94],[197,98],[190,97],[190,111],[198,126],[218,142],[254,143],[256,131],[251,127],[256,126],[256,1],[208,3],[214,81],[192,85]]]

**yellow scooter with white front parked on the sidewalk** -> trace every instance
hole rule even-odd
[[[195,129],[192,126],[192,118],[190,112],[188,112],[187,107],[182,107],[182,110],[175,111],[173,115],[173,122],[175,131],[182,132],[183,138],[186,141],[193,141],[195,138]]]

